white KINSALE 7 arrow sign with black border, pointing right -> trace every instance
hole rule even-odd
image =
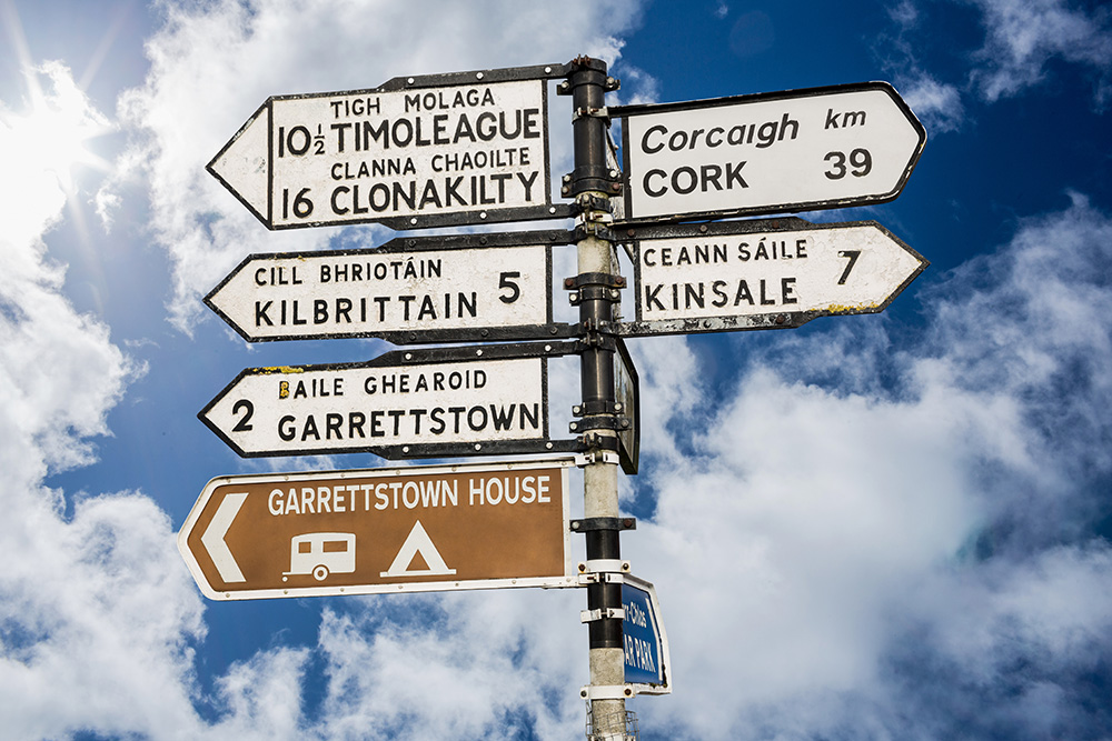
[[[773,220],[636,230],[636,321],[619,334],[800,327],[883,311],[929,264],[875,221]]]

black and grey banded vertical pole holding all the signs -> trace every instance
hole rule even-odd
[[[579,274],[567,281],[577,289],[579,322],[584,330],[579,383],[583,403],[584,440],[595,453],[584,469],[584,534],[588,564],[615,562],[622,558],[618,539],[617,450],[614,398],[614,338],[603,334],[614,317],[617,288],[624,284],[615,274],[616,259],[608,222],[609,197],[620,188],[616,172],[606,164],[607,129],[604,93],[617,89],[617,81],[606,74],[606,62],[582,57],[573,60],[573,71],[562,92],[570,91],[575,169],[565,179],[564,194],[576,198],[580,213],[577,226]],[[622,618],[609,617],[622,608],[622,584],[600,580],[587,585],[587,610],[602,615],[588,622],[590,645],[590,688],[622,688],[625,683]],[[620,613],[616,613],[620,615]],[[613,692],[609,693],[613,695]],[[593,739],[624,740],[626,709],[624,695],[590,698]]]

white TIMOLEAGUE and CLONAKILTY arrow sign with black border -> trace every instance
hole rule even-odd
[[[395,78],[269,98],[208,164],[269,229],[566,217],[553,204],[547,80],[564,64]]]

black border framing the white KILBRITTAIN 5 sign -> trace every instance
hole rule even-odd
[[[205,304],[211,309],[220,319],[242,337],[248,342],[282,342],[287,340],[334,340],[346,338],[377,338],[393,342],[394,344],[421,344],[439,342],[468,342],[468,341],[497,341],[497,340],[543,340],[543,339],[567,339],[576,337],[576,326],[565,322],[553,321],[553,256],[552,248],[556,244],[572,244],[575,241],[574,234],[566,230],[537,230],[519,232],[490,232],[478,234],[445,234],[440,237],[397,237],[389,242],[374,249],[347,249],[347,250],[324,250],[307,252],[270,252],[250,254],[236,266],[224,280],[217,284],[205,297]],[[545,286],[546,286],[546,319],[544,324],[517,324],[509,327],[465,327],[443,330],[411,330],[411,331],[351,331],[351,332],[320,332],[316,334],[281,334],[276,337],[254,337],[244,328],[236,324],[230,317],[220,311],[216,306],[216,294],[227,286],[241,270],[245,270],[254,260],[266,259],[297,259],[297,258],[332,258],[365,254],[403,254],[419,253],[430,251],[446,251],[454,249],[467,250],[497,250],[504,247],[532,247],[542,246],[545,248]],[[497,259],[495,254],[490,256]]]

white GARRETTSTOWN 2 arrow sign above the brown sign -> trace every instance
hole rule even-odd
[[[249,368],[198,417],[245,458],[577,450],[548,439],[546,360],[573,351],[574,343],[536,342]]]

